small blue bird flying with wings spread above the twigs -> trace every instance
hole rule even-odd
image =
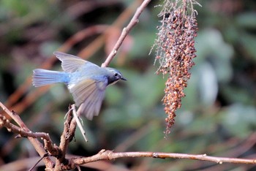
[[[100,67],[78,56],[67,53],[53,53],[61,61],[64,72],[46,69],[33,70],[33,85],[45,86],[53,83],[65,83],[72,94],[77,107],[83,104],[82,113],[92,120],[99,110],[108,85],[126,80],[121,72],[109,67]]]

